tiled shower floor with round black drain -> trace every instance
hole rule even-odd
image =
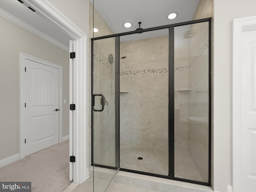
[[[142,157],[142,160],[138,160]],[[168,152],[120,144],[120,168],[168,175]],[[203,181],[187,150],[175,150],[175,177]]]

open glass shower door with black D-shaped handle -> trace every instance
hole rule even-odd
[[[106,190],[119,168],[119,54],[116,52],[119,48],[116,40],[92,42],[92,144],[94,191],[97,192]]]

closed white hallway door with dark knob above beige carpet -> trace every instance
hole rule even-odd
[[[59,142],[59,70],[25,60],[25,156]]]

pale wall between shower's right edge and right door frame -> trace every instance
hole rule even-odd
[[[214,190],[232,185],[232,22],[255,16],[256,1],[214,0]]]

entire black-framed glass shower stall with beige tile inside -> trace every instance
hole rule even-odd
[[[210,186],[211,19],[92,38],[92,165]],[[142,33],[141,33],[142,32]]]

